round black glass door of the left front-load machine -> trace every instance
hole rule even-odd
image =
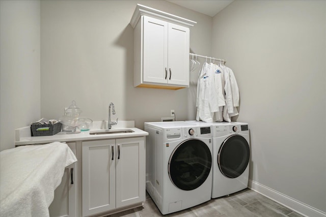
[[[182,190],[191,191],[207,179],[212,166],[212,156],[207,145],[199,139],[180,143],[169,160],[169,176],[173,184]]]

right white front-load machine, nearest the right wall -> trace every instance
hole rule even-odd
[[[201,121],[197,122],[207,125]],[[209,123],[213,140],[212,198],[248,188],[250,140],[248,123]]]

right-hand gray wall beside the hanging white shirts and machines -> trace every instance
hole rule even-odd
[[[250,178],[326,211],[325,1],[235,1],[213,17],[213,55],[240,89]]]

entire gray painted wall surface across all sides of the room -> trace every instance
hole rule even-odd
[[[140,3],[197,21],[191,51],[228,60],[237,120],[250,123],[250,178],[325,211],[324,1],[235,1],[213,19],[166,1],[0,3],[1,150],[14,147],[15,128],[58,118],[71,100],[94,120],[114,102],[139,128],[170,109],[195,118],[197,72],[188,89],[132,87],[129,20]]]

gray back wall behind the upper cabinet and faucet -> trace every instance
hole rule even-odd
[[[180,90],[133,87],[129,21],[137,3],[197,21],[191,29],[191,50],[210,55],[211,17],[166,1],[42,1],[42,117],[60,117],[72,100],[82,116],[96,121],[107,120],[113,102],[113,118],[135,120],[141,129],[145,121],[169,117],[171,109],[178,120],[196,117],[194,98],[188,95],[195,85]]]

